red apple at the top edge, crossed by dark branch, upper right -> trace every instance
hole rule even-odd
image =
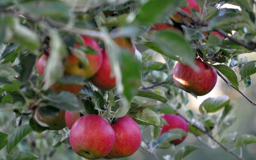
[[[199,7],[198,3],[196,3],[195,0],[186,0],[186,1],[189,3],[189,6],[188,7],[180,7],[180,9],[182,9],[183,11],[186,11],[190,14],[191,14],[190,8],[195,8],[195,9],[198,10],[198,12],[200,12],[200,7]],[[172,20],[174,20],[177,23],[184,23],[183,19],[182,19],[182,16],[178,13],[176,13],[174,15],[171,15],[171,18],[172,18]],[[186,19],[190,23],[192,23],[192,20],[190,18],[186,17]]]

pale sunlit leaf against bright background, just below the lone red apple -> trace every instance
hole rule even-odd
[[[228,105],[229,102],[230,99],[227,95],[218,96],[215,98],[207,98],[204,100],[204,102],[201,103],[201,105],[199,106],[199,110],[201,113],[204,113],[204,111],[206,111],[207,113],[216,112]]]

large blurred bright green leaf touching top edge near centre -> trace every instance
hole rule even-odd
[[[161,0],[161,3],[157,0],[150,0],[137,13],[135,22],[141,25],[160,22],[166,18],[166,15],[174,14],[180,6],[183,6],[183,3],[183,0]]]

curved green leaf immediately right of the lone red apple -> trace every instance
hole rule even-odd
[[[237,89],[239,88],[236,73],[230,67],[224,64],[213,65],[213,67],[220,71]]]

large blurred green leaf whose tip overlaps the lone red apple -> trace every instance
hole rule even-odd
[[[195,65],[195,50],[184,38],[181,33],[175,31],[158,31],[154,41],[157,45],[163,49],[164,52],[170,52],[172,55],[178,55],[182,58],[182,61],[192,67],[194,70],[198,70]]]

